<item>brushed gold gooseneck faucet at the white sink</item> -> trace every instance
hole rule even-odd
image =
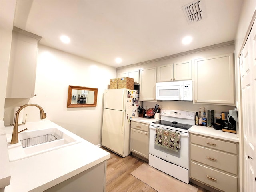
[[[20,111],[21,111],[23,108],[27,107],[27,106],[35,106],[35,107],[37,107],[37,108],[40,110],[40,118],[41,118],[41,119],[45,119],[45,118],[46,118],[46,113],[44,113],[43,108],[40,107],[40,106],[37,105],[37,104],[25,104],[25,105],[20,106],[20,108],[18,108],[18,110],[16,111],[15,116],[14,116],[14,128],[13,128],[13,131],[12,131],[12,140],[11,140],[11,144],[18,143],[18,142],[19,142],[18,133],[27,130],[27,129],[24,129],[24,130],[18,132],[18,122],[19,122],[19,114],[20,114]]]

